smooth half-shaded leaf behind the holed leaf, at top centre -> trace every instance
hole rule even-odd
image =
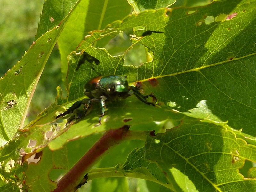
[[[63,80],[68,69],[67,56],[76,49],[77,45],[90,31],[101,30],[115,20],[121,20],[131,11],[126,0],[90,0],[79,3],[77,9],[67,23],[58,42],[61,54]],[[98,46],[105,46],[110,38],[97,42]]]

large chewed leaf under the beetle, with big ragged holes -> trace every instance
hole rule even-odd
[[[253,46],[250,46],[245,51],[237,52],[236,56],[232,53],[234,58],[230,60],[230,53],[225,51],[231,49],[228,48],[228,46],[231,46],[228,42],[232,41],[232,46],[237,47],[235,45],[239,41],[237,43],[233,40],[235,36],[232,36],[233,33],[229,33],[227,26],[231,25],[233,21],[236,23],[236,18],[239,17],[236,16],[231,20],[226,20],[226,16],[223,17],[224,13],[228,14],[228,10],[231,7],[236,7],[235,3],[231,3],[228,6],[229,4],[230,2],[228,1],[224,1],[221,4],[220,2],[215,2],[211,6],[198,8],[196,12],[194,8],[174,9],[172,12],[166,9],[151,10],[138,15],[127,16],[122,22],[116,21],[103,31],[94,31],[91,36],[87,36],[80,44],[78,50],[86,51],[93,57],[98,58],[100,64],[95,65],[85,61],[79,70],[76,70],[82,54],[71,53],[68,57],[69,71],[67,78],[68,82],[70,82],[67,84],[68,103],[83,98],[84,85],[95,76],[105,74],[127,75],[127,79],[131,84],[136,81],[141,82],[145,94],[154,93],[158,100],[163,101],[169,106],[172,105],[172,108],[184,112],[188,116],[208,118],[215,121],[228,120],[228,125],[233,125],[236,129],[243,128],[243,132],[254,135],[253,125],[255,122],[252,118],[255,111],[253,106],[246,105],[246,102],[250,101],[249,97],[244,97],[242,101],[240,96],[243,94],[252,95],[250,89],[247,89],[248,92],[244,92],[243,87],[249,86],[253,90],[253,83],[250,82],[253,82],[254,77],[249,75],[252,73],[252,68],[250,67],[251,63],[247,61],[254,58],[254,53],[252,53]],[[223,10],[220,9],[220,6]],[[240,10],[242,6],[247,6],[247,4],[241,4]],[[246,9],[246,12],[250,12],[249,7]],[[242,10],[239,14],[243,15],[245,13]],[[180,17],[180,15],[184,15],[184,17]],[[216,22],[205,24],[205,21],[202,20],[204,15],[214,16]],[[224,18],[224,20],[218,21],[219,17]],[[197,23],[199,25],[197,26],[196,20],[202,20],[202,24],[199,25]],[[180,28],[181,23],[189,23],[189,28]],[[245,22],[240,24],[246,25]],[[143,26],[144,30],[136,31],[137,38],[132,39],[133,43],[142,43],[154,53],[154,60],[140,67],[125,66],[124,55],[113,57],[105,49],[91,46],[105,36],[116,35],[119,31],[138,26]],[[253,25],[248,21],[247,28],[250,28],[250,26]],[[192,28],[194,29],[192,30]],[[222,34],[213,36],[211,33],[208,33],[209,30],[212,33],[214,31],[219,33],[220,30],[218,28],[227,29],[221,33],[227,33],[226,36],[230,36],[228,41],[218,38],[218,36],[223,36]],[[164,33],[153,33],[150,36],[141,38],[140,36],[145,30],[164,31]],[[235,34],[239,35],[239,29],[234,27],[232,30],[237,30]],[[180,32],[178,33],[178,31]],[[176,37],[172,38],[174,36]],[[248,38],[250,39],[248,42],[253,42],[251,36]],[[213,42],[219,43],[213,44]],[[222,47],[219,47],[218,44],[222,44]],[[189,52],[190,57],[188,58]],[[179,58],[184,58],[185,60]],[[247,70],[242,70],[242,66],[240,67],[236,64],[240,62],[244,66],[247,65],[245,67]],[[242,79],[240,82],[238,82],[239,79],[235,80],[235,76],[238,74],[236,70],[230,70],[228,74],[223,73],[224,68],[236,69],[239,67],[241,68],[239,73],[244,73],[243,81]],[[248,71],[249,69],[250,71]],[[228,78],[229,83],[226,84],[227,79],[226,81],[221,80],[223,78]],[[246,86],[245,82],[247,82]],[[231,90],[234,91],[231,92]],[[241,102],[244,105],[241,105]],[[67,103],[63,104],[66,105]],[[69,104],[67,107],[69,106],[71,105]],[[103,118],[104,123],[101,126],[97,126],[100,109],[94,106],[92,112],[85,120],[74,124],[71,130],[65,132],[65,135],[53,141],[51,148],[56,147],[57,149],[62,145],[61,143],[64,144],[67,140],[77,135],[86,136],[109,128],[121,127],[124,124],[134,125],[153,120],[162,121],[166,118],[176,120],[183,118],[172,113],[172,110],[165,108],[164,105],[161,108],[147,106],[133,96],[118,103],[107,103],[107,108],[108,111]],[[226,110],[223,113],[222,109],[224,108],[230,108],[230,110]],[[232,108],[233,110],[231,110]],[[143,113],[140,113],[140,111],[143,111]],[[244,111],[249,111],[249,115],[245,114]],[[154,117],[151,118],[147,114],[154,114]],[[248,119],[249,122],[239,118],[240,116]],[[127,119],[132,120],[127,123]],[[57,143],[53,144],[55,142],[58,145]],[[54,145],[55,147],[53,147]]]

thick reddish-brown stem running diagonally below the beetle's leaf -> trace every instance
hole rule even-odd
[[[84,156],[59,180],[53,192],[73,192],[81,183],[87,172],[96,161],[113,145],[123,141],[128,136],[129,126],[110,129],[90,148]]]

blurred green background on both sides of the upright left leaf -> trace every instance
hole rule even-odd
[[[22,58],[35,40],[43,4],[44,0],[0,0],[0,77]],[[60,54],[56,45],[36,87],[28,121],[55,102],[58,85],[62,82]]]

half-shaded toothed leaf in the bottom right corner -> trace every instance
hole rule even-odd
[[[182,124],[148,136],[145,158],[156,162],[175,191],[255,191],[255,178],[244,178],[239,169],[245,159],[256,161],[255,145],[225,126],[184,119]]]

